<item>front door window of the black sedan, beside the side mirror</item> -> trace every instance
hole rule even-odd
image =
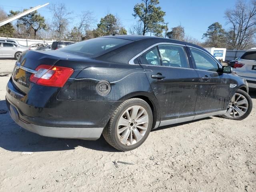
[[[195,60],[197,69],[213,72],[218,71],[218,63],[212,57],[198,49],[190,48],[190,50]]]

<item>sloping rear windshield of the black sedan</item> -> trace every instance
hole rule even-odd
[[[94,38],[60,48],[58,51],[95,58],[130,42],[132,41],[117,38]]]

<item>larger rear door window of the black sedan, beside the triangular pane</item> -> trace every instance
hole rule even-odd
[[[162,44],[158,48],[163,66],[189,68],[183,46]]]

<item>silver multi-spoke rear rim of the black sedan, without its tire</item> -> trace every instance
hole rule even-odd
[[[144,137],[148,129],[148,112],[142,106],[132,106],[122,114],[117,126],[120,142],[133,145]]]

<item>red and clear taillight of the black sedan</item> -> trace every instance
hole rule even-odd
[[[30,82],[51,87],[63,87],[74,72],[72,68],[49,65],[40,65],[36,71],[30,76]]]

